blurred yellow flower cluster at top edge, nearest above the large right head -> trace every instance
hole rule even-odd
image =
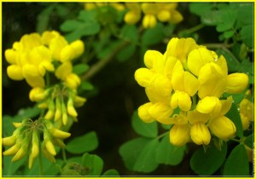
[[[183,20],[183,15],[177,9],[177,3],[125,3],[129,11],[125,14],[126,24],[136,24],[143,16],[143,27],[151,28],[157,23],[170,22],[177,24]]]

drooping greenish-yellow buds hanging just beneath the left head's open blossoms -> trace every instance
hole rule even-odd
[[[61,84],[56,84],[47,90],[40,87],[33,88],[29,98],[31,101],[37,101],[39,108],[48,109],[44,118],[54,119],[58,129],[78,121],[78,113],[74,107],[82,107],[86,101],[85,98],[77,95],[76,90]]]

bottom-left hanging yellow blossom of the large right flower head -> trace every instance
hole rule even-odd
[[[178,147],[185,145],[190,138],[189,124],[173,125],[170,130],[170,142]]]

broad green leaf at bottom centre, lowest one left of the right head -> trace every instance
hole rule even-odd
[[[127,169],[150,172],[158,166],[155,160],[158,145],[159,141],[156,139],[139,137],[119,147],[119,154]]]

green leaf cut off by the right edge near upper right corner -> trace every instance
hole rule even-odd
[[[253,25],[243,26],[241,28],[241,39],[249,48],[253,48]]]

